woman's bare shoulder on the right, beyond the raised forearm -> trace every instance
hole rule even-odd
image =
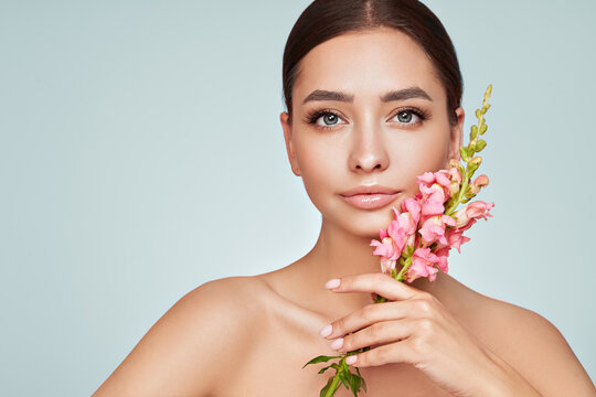
[[[478,296],[477,318],[485,322],[486,343],[536,390],[543,396],[596,396],[589,376],[553,323],[532,310]]]

